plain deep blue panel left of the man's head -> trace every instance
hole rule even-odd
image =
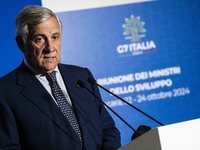
[[[0,5],[0,77],[17,67],[23,55],[15,42],[15,19],[26,5],[41,5],[40,0],[5,0]]]

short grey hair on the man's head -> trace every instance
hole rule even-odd
[[[60,25],[60,30],[62,31],[61,20],[50,9],[35,5],[24,7],[18,14],[15,21],[16,36],[21,37],[25,44],[29,34],[29,27],[45,22],[51,17],[56,18]]]

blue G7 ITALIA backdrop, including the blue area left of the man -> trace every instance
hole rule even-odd
[[[3,3],[0,76],[23,58],[15,44],[16,14],[26,4],[41,5],[40,1]],[[200,117],[198,0],[159,0],[57,14],[64,28],[62,63],[89,68],[99,84],[165,125]],[[102,90],[101,94],[134,128],[160,126],[110,94]],[[133,131],[112,116],[124,145]]]

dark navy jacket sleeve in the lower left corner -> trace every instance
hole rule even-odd
[[[0,97],[0,149],[20,150],[14,115],[2,97]]]

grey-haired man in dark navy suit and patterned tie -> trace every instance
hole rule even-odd
[[[100,97],[98,88],[87,82],[89,77],[93,78],[91,72],[60,64],[61,32],[59,18],[45,7],[27,6],[17,16],[16,41],[24,60],[0,79],[1,150],[120,147],[120,133],[105,107],[84,88],[77,87],[77,81],[82,80]],[[47,77],[52,72],[55,89]],[[60,105],[58,95],[67,101],[68,112]]]

